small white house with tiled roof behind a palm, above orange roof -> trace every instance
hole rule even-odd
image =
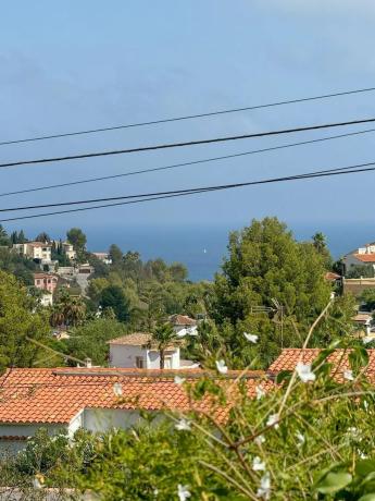
[[[110,345],[111,367],[159,369],[160,352],[152,342],[152,334],[149,332],[135,332],[112,339]],[[188,369],[199,365],[190,361],[180,359],[180,342],[173,342],[167,346],[164,354],[165,369]]]

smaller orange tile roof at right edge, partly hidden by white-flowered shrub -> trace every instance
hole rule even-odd
[[[282,351],[278,358],[268,367],[268,374],[277,374],[280,370],[293,370],[297,363],[300,361],[303,362],[303,364],[311,364],[321,351],[321,349],[285,349]],[[336,367],[338,365],[340,369],[345,370],[349,368],[349,350],[335,350],[335,352],[328,356],[328,362]],[[370,357],[367,372],[375,372],[375,350],[367,350],[367,353]]]

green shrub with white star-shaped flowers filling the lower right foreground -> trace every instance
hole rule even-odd
[[[233,382],[207,377],[185,383],[192,401],[210,395],[210,414],[184,416],[183,430],[172,426],[180,416],[167,414],[166,421],[112,431],[97,442],[78,486],[111,501],[176,499],[178,485],[191,500],[373,499],[375,394],[363,376],[368,356],[354,349],[354,380],[342,382],[327,363],[338,345],[309,366],[314,381],[284,374],[280,387],[258,399],[245,381],[236,399]],[[225,421],[218,408],[227,408]]]

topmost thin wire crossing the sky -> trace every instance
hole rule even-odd
[[[360,89],[354,89],[354,90],[345,90],[341,93],[332,93],[332,94],[323,94],[320,96],[312,96],[312,97],[304,97],[300,99],[288,99],[284,101],[276,101],[276,102],[270,102],[265,105],[255,105],[255,106],[247,106],[242,108],[232,108],[232,109],[226,109],[226,110],[218,110],[218,111],[211,111],[211,112],[204,112],[204,113],[197,113],[197,114],[187,114],[183,117],[172,117],[167,119],[160,119],[160,120],[151,120],[148,122],[134,122],[134,123],[127,123],[125,125],[114,125],[114,126],[109,126],[109,127],[100,127],[100,129],[88,129],[85,131],[75,131],[75,132],[67,132],[63,134],[50,134],[50,135],[41,135],[41,136],[35,136],[35,137],[28,137],[26,139],[11,139],[11,140],[3,140],[0,143],[0,146],[4,145],[14,145],[18,143],[30,143],[35,140],[43,140],[43,139],[54,139],[58,137],[68,137],[68,136],[79,136],[84,134],[93,134],[98,132],[109,132],[109,131],[118,131],[121,129],[130,129],[130,127],[142,127],[145,125],[155,125],[155,124],[161,124],[161,123],[168,123],[168,122],[180,122],[183,120],[192,120],[192,119],[202,119],[207,117],[215,117],[215,115],[221,115],[221,114],[228,114],[228,113],[238,113],[240,111],[250,111],[250,110],[259,110],[262,108],[272,108],[272,107],[277,107],[277,106],[283,106],[283,105],[292,105],[296,102],[305,102],[305,101],[314,101],[318,99],[328,99],[332,97],[339,97],[339,96],[349,96],[352,94],[361,94],[361,93],[370,93],[375,90],[375,87],[368,87],[368,88],[360,88]]]

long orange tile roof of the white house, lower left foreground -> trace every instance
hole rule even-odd
[[[84,408],[122,408],[145,411],[210,411],[208,399],[190,402],[184,387],[174,382],[178,374],[193,381],[202,370],[135,370],[115,368],[14,368],[0,378],[0,423],[68,424]],[[240,372],[229,372],[238,377]],[[246,376],[249,394],[254,395],[260,376],[253,371]],[[123,395],[116,398],[113,384],[122,386]],[[223,383],[232,384],[227,380]],[[272,383],[264,381],[267,388]],[[236,386],[234,386],[235,388]],[[217,416],[225,418],[227,408],[215,407]]]

